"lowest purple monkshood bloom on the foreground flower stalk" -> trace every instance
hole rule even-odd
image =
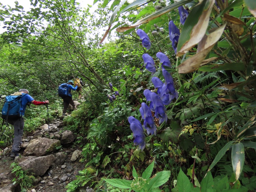
[[[128,122],[130,123],[130,129],[132,130],[132,135],[134,138],[134,145],[139,145],[139,149],[143,151],[146,146],[145,135],[143,127],[138,119],[135,119],[133,116],[128,118]]]

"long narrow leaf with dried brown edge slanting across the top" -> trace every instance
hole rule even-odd
[[[180,2],[177,2],[177,3],[173,3],[173,4],[170,4],[154,13],[152,13],[151,15],[148,15],[147,17],[141,19],[141,20],[138,20],[136,23],[134,23],[133,25],[131,26],[128,26],[128,27],[120,27],[120,28],[117,28],[116,30],[118,32],[124,32],[130,28],[135,28],[143,23],[147,23],[153,19],[156,19],[157,17],[160,17],[161,15],[165,14],[165,13],[168,13],[170,11],[172,11],[173,9],[176,9],[178,8],[179,6],[181,5],[184,5],[184,4],[187,4],[189,2],[191,2],[192,0],[184,0],[184,1],[180,1]]]

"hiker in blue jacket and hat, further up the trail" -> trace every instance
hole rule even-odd
[[[72,85],[74,85],[74,81],[69,80],[67,82],[68,84],[68,88],[67,88],[67,96],[62,97],[63,99],[63,105],[64,105],[64,109],[62,111],[62,116],[65,116],[67,110],[68,110],[68,105],[72,105],[73,109],[76,109],[76,104],[74,102],[74,100],[72,99],[72,94],[71,94],[71,90],[76,91],[78,84],[76,84],[76,87],[73,87]]]

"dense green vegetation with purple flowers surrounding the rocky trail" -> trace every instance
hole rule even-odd
[[[48,10],[22,12],[23,24],[2,6],[0,94],[48,98],[52,121],[58,85],[83,78],[81,105],[63,121],[85,167],[67,191],[256,190],[254,0],[95,0],[95,14],[74,1],[36,2]],[[99,44],[103,25],[118,38]],[[40,106],[25,117],[26,132],[48,121]],[[13,137],[3,130],[1,147]]]

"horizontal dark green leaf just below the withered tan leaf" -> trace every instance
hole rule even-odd
[[[205,65],[198,68],[199,71],[221,71],[221,70],[233,70],[233,71],[244,71],[244,63],[222,63],[222,64],[211,64]]]

